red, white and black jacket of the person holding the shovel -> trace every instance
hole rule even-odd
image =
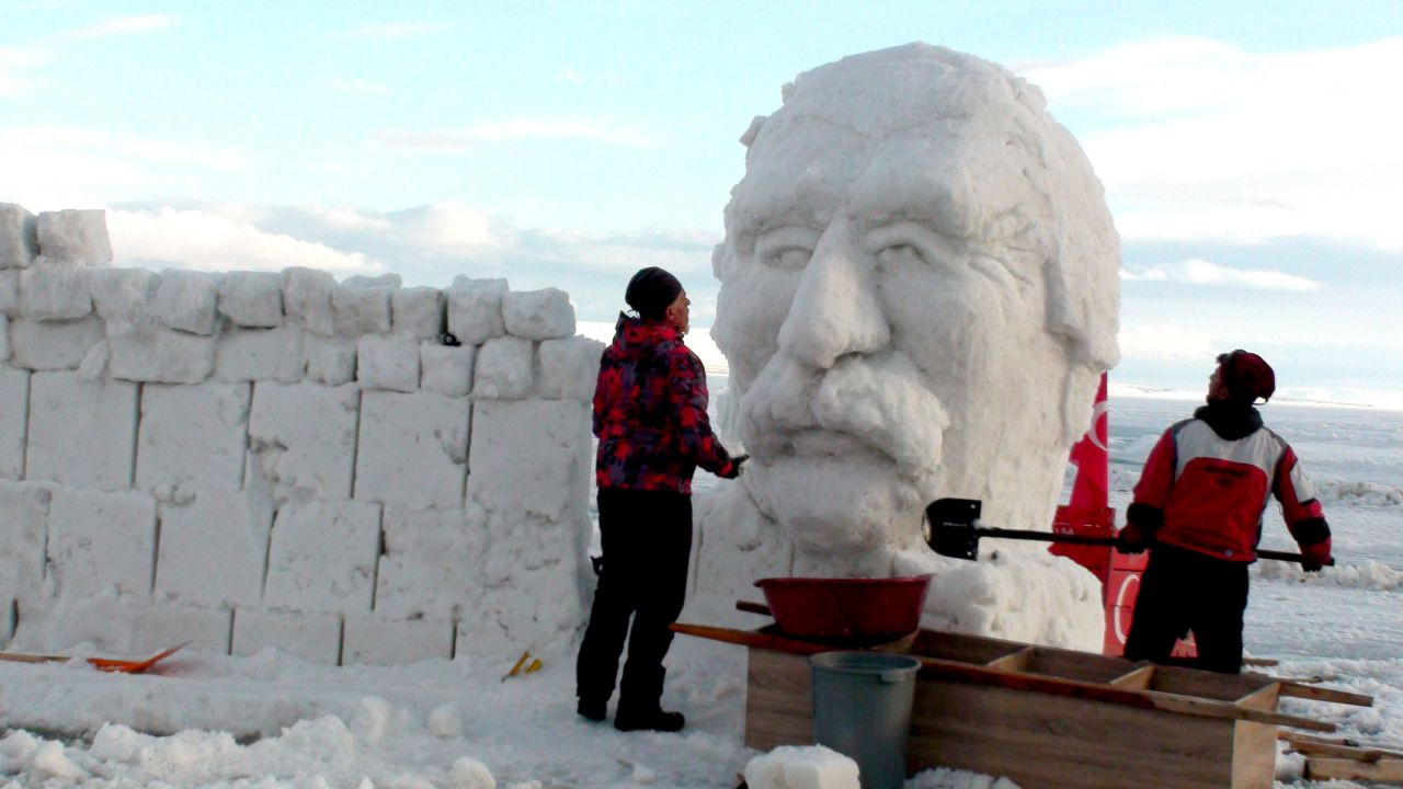
[[[1268,496],[1302,550],[1327,557],[1330,526],[1291,446],[1256,409],[1211,403],[1159,438],[1127,519],[1156,542],[1253,562]]]

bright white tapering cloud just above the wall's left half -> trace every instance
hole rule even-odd
[[[135,263],[201,271],[281,271],[306,265],[340,277],[386,271],[365,254],[268,233],[209,211],[109,211],[107,225],[118,253],[116,265]]]

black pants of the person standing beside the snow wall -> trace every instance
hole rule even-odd
[[[672,644],[668,625],[682,614],[687,588],[692,497],[602,487],[599,536],[603,563],[575,663],[575,695],[591,703],[609,701],[627,633],[629,663],[619,688],[619,710],[657,712],[662,698],[662,658]]]

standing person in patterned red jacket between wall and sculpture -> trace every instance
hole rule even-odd
[[[589,720],[606,717],[627,635],[615,727],[678,731],[682,713],[661,706],[662,658],[686,594],[692,475],[700,466],[735,479],[746,456],[732,458],[711,432],[706,371],[682,343],[692,302],[678,278],[644,268],[629,281],[624,300],[637,317],[619,314],[595,386],[603,559],[575,664],[577,710]]]

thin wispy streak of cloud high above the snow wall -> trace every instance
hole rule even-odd
[[[376,132],[375,139],[391,147],[434,153],[463,153],[484,142],[523,139],[582,139],[619,147],[658,145],[648,135],[622,124],[582,118],[512,118],[473,124],[460,129],[386,129]]]

